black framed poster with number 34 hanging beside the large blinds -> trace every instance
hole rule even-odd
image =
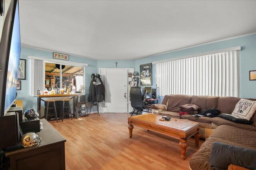
[[[140,65],[140,86],[152,85],[152,63]]]

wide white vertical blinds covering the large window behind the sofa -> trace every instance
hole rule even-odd
[[[156,63],[160,95],[238,96],[239,51]]]

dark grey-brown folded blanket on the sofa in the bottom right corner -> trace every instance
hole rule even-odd
[[[230,164],[256,170],[256,150],[214,142],[210,154],[210,165],[216,170],[226,170]]]

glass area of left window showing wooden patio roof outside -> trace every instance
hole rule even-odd
[[[84,67],[68,64],[45,63],[45,83],[47,90],[70,89],[70,92],[79,91],[84,85]]]

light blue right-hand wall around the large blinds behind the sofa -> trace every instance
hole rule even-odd
[[[240,97],[256,98],[256,81],[249,80],[249,70],[256,70],[256,34],[138,59],[135,61],[135,70],[140,70],[140,64],[237,46],[242,47],[242,51],[240,51]],[[152,68],[152,75],[152,86],[156,86],[155,65]]]

